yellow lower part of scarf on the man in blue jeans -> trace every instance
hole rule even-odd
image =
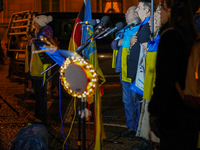
[[[131,78],[127,77],[127,56],[129,48],[122,48],[122,80],[131,83]]]

